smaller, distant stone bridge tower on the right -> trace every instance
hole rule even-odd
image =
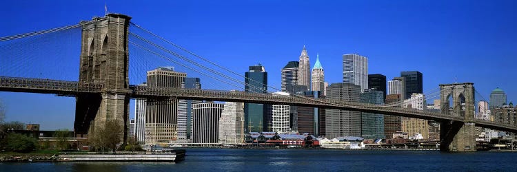
[[[451,97],[453,107],[452,111],[449,111],[449,99]],[[476,151],[474,100],[474,83],[440,85],[441,113],[464,117],[463,122],[447,121],[441,123],[441,151]],[[462,103],[465,103],[465,113]]]

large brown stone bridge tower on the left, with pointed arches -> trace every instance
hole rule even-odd
[[[79,84],[102,84],[101,94],[77,96],[74,130],[94,134],[105,122],[119,122],[123,141],[129,118],[128,28],[131,17],[108,14],[83,21]]]

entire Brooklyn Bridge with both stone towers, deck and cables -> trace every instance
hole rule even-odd
[[[156,54],[163,58],[167,57],[156,53],[156,50],[168,52],[178,58],[186,58],[184,55],[157,45],[149,39],[144,39],[138,33],[131,32],[130,27],[141,28],[141,26],[132,23],[130,19],[131,17],[124,14],[107,14],[105,17],[97,17],[92,21],[81,21],[77,25],[0,38],[0,42],[4,42],[31,36],[55,34],[63,30],[81,29],[79,80],[61,80],[60,78],[47,78],[44,75],[37,78],[9,76],[8,72],[4,72],[1,75],[6,76],[0,76],[0,92],[26,92],[75,97],[74,131],[94,133],[96,128],[104,127],[107,120],[116,120],[123,124],[121,127],[124,128],[124,138],[128,137],[129,103],[132,98],[296,105],[434,120],[440,122],[440,150],[442,151],[476,151],[475,127],[517,132],[517,126],[514,125],[474,118],[474,104],[476,103],[474,83],[439,85],[441,113],[407,109],[396,104],[372,105],[343,100],[306,98],[292,94],[283,96],[235,90],[181,89],[130,84],[130,71],[138,68],[132,68],[133,66],[130,65],[132,59],[129,52],[130,46],[140,47],[148,54]],[[152,32],[143,28],[141,30],[152,34]],[[156,38],[161,39],[159,36],[156,36]],[[142,47],[139,43],[153,45],[154,49]],[[196,56],[192,52],[188,53]],[[9,58],[12,58],[13,61],[17,60],[16,56]],[[189,59],[185,60],[190,61]],[[54,66],[52,62],[45,65],[59,67]],[[218,73],[217,71],[213,72]],[[231,80],[232,78],[220,76],[213,79],[224,84],[225,80]],[[462,103],[465,103],[465,108],[456,108],[460,107]],[[451,105],[454,108],[449,111]]]

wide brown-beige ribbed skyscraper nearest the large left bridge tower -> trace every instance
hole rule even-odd
[[[181,88],[187,74],[174,67],[158,67],[147,72],[148,87]],[[178,100],[148,99],[145,111],[145,143],[155,144],[177,139]]]

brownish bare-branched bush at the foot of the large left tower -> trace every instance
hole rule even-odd
[[[90,133],[88,142],[94,151],[115,151],[116,145],[122,141],[122,135],[122,124],[116,120],[108,120],[104,127],[99,127]]]

